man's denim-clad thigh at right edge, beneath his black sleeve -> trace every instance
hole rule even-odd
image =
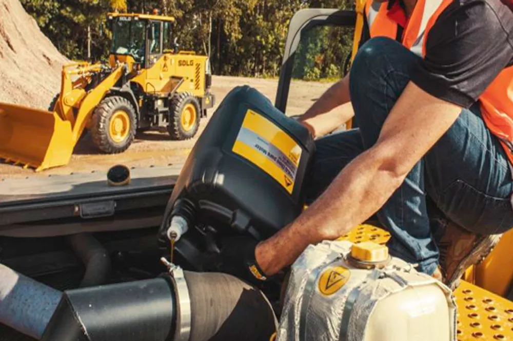
[[[426,190],[438,208],[471,232],[513,226],[508,159],[473,105],[424,157]]]

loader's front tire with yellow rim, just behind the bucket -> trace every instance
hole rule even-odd
[[[136,129],[135,109],[124,97],[104,98],[94,109],[91,137],[96,147],[104,153],[126,151],[135,138]]]

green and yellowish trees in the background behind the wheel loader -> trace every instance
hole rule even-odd
[[[154,8],[176,18],[182,49],[210,51],[215,74],[275,77],[279,74],[289,20],[302,8],[352,9],[351,0],[21,0],[53,44],[70,59],[105,59],[111,33],[106,14],[117,9],[149,13]],[[336,78],[350,50],[350,30],[323,28],[304,37],[294,77]]]

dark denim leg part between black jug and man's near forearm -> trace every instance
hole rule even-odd
[[[340,171],[363,151],[359,129],[334,133],[315,141],[315,156],[307,183],[307,203],[317,199]]]

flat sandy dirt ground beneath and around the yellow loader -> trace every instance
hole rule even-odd
[[[0,163],[0,179],[106,171],[112,165],[119,163],[129,167],[182,163],[187,158],[201,132],[205,129],[209,117],[231,89],[248,84],[274,102],[278,88],[278,80],[269,79],[214,76],[212,83],[212,93],[216,97],[216,106],[209,110],[207,119],[202,119],[200,131],[194,139],[173,141],[167,133],[145,132],[137,135],[134,143],[125,153],[105,155],[98,153],[89,136],[86,136],[75,147],[71,161],[67,166],[35,173],[32,169],[23,169],[20,166]],[[328,83],[293,82],[290,87],[287,115],[303,113],[329,86]]]

